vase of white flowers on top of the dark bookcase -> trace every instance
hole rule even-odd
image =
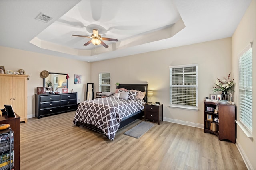
[[[233,87],[235,83],[233,82],[234,79],[230,79],[230,74],[228,74],[228,78],[223,77],[222,80],[217,78],[214,84],[215,86],[213,87],[214,89],[212,90],[214,93],[222,92],[222,100],[228,100],[228,92],[234,91]]]

